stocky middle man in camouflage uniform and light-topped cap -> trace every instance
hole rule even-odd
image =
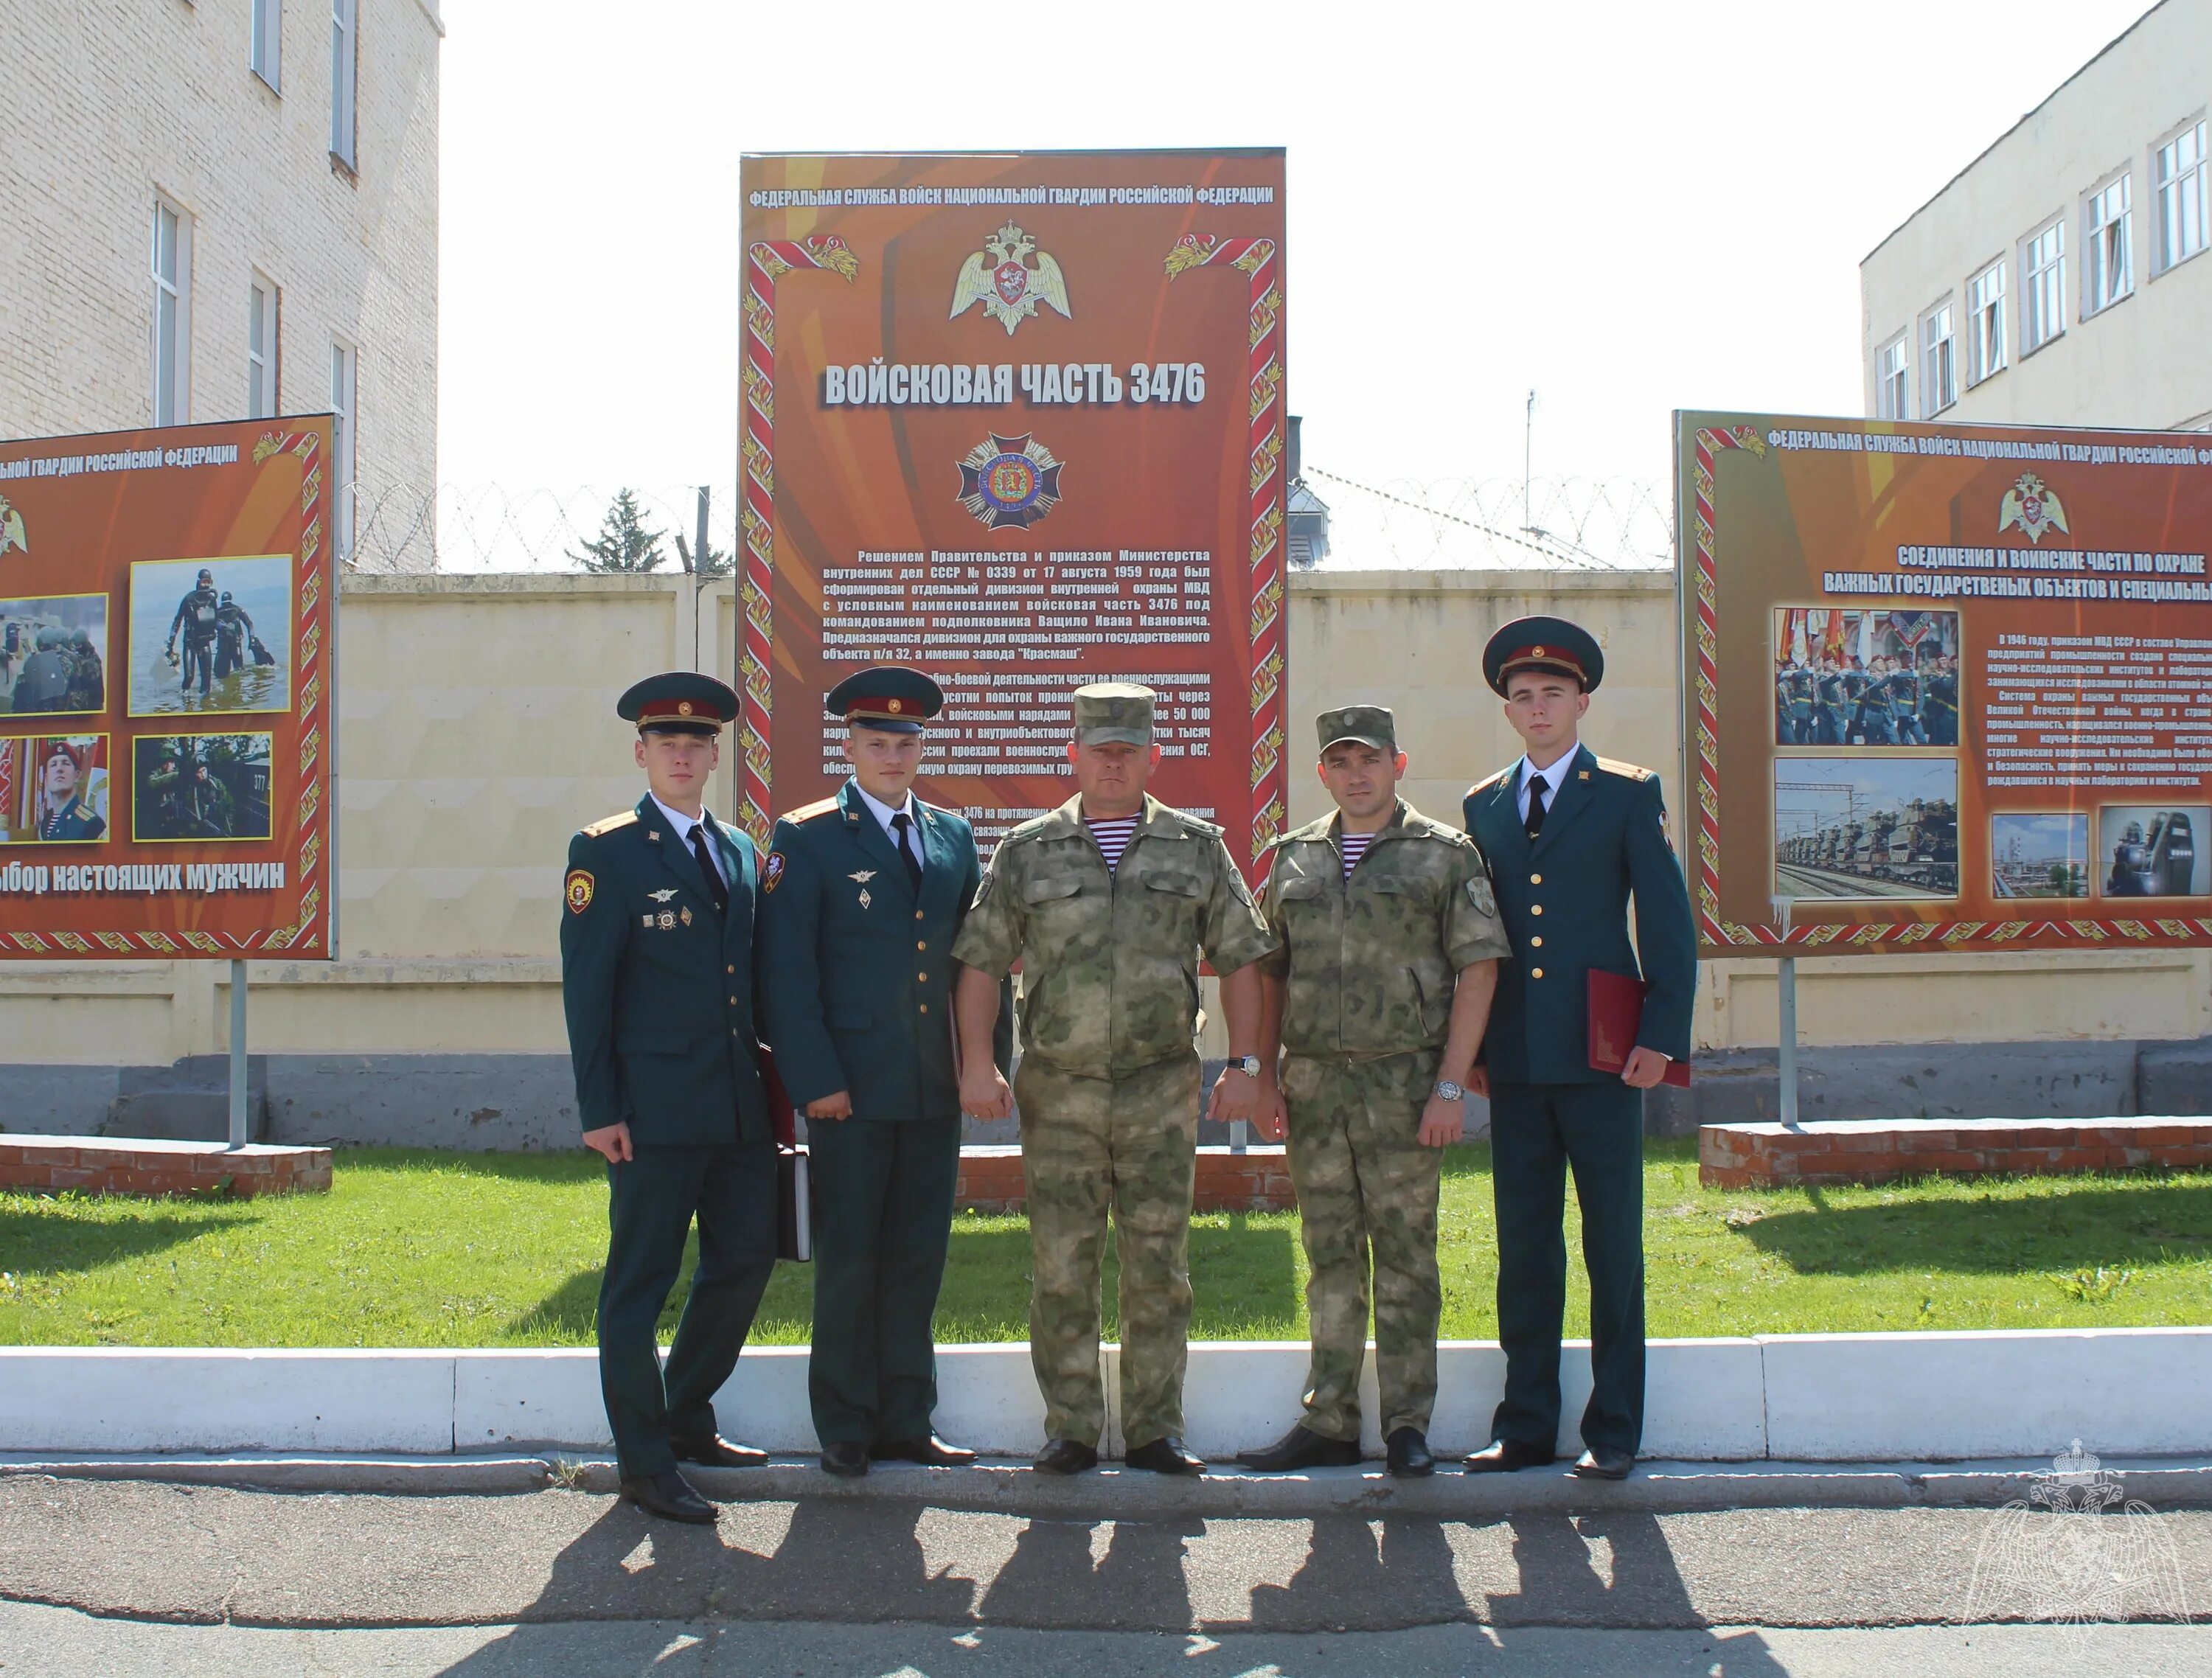
[[[962,964],[960,1105],[1022,1108],[1033,1284],[1029,1351],[1044,1391],[1037,1468],[1097,1464],[1099,1260],[1121,1256],[1121,1435],[1133,1468],[1197,1475],[1181,1441],[1190,1331],[1190,1192],[1199,1130],[1199,951],[1221,975],[1232,1070],[1217,1119],[1259,1101],[1259,968],[1274,948],[1221,829],[1144,794],[1159,765],[1152,690],[1075,692],[1077,796],[1004,840],[975,891]],[[1022,962],[1015,1088],[991,1063],[998,984]]]

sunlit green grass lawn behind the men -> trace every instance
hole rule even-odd
[[[1719,1192],[1666,1141],[1644,1198],[1652,1335],[2212,1322],[2212,1172]],[[582,1154],[347,1150],[332,1194],[268,1200],[0,1194],[0,1342],[580,1346],[604,1240]],[[1495,1335],[1484,1145],[1447,1161],[1442,1254],[1444,1335]],[[1305,1335],[1294,1216],[1197,1218],[1190,1271],[1194,1338]],[[805,1342],[810,1287],[783,1265],[754,1340]],[[1110,1273],[1106,1300],[1113,1335]],[[1026,1225],[960,1216],[938,1338],[1026,1331]]]

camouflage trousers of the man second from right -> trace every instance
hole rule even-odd
[[[1283,1061],[1290,1181],[1310,1278],[1314,1355],[1305,1426],[1323,1439],[1360,1437],[1367,1355],[1367,1256],[1374,1251],[1376,1384],[1383,1437],[1429,1430],[1436,1406],[1436,1196],[1442,1147],[1420,1145],[1420,1110],[1438,1050],[1378,1061]]]

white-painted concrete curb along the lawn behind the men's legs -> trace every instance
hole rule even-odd
[[[1099,1355],[1106,1457],[1121,1455],[1119,1346]],[[1228,1461],[1298,1415],[1307,1346],[1190,1349],[1183,1439]],[[1438,1455],[1489,1439],[1504,1388],[1495,1342],[1438,1349]],[[1562,1455],[1590,1393],[1586,1342],[1559,1364]],[[1376,1437],[1374,1360],[1360,1382]],[[2212,1457],[2212,1329],[1993,1329],[1975,1333],[1655,1340],[1644,1448],[1663,1461],[2048,1461],[2070,1439],[2110,1457]],[[812,1455],[807,1349],[748,1351],[714,1399],[732,1437]],[[938,1351],[938,1426],[1024,1461],[1044,1404],[1024,1344]],[[40,1455],[307,1452],[522,1457],[608,1448],[597,1353],[0,1349],[0,1448]]]

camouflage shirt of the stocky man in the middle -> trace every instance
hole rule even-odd
[[[1217,973],[1274,948],[1221,829],[1146,798],[1108,873],[1071,798],[1000,840],[953,959],[993,979],[1022,962],[1022,1050],[1108,1079],[1190,1052],[1201,948]]]

